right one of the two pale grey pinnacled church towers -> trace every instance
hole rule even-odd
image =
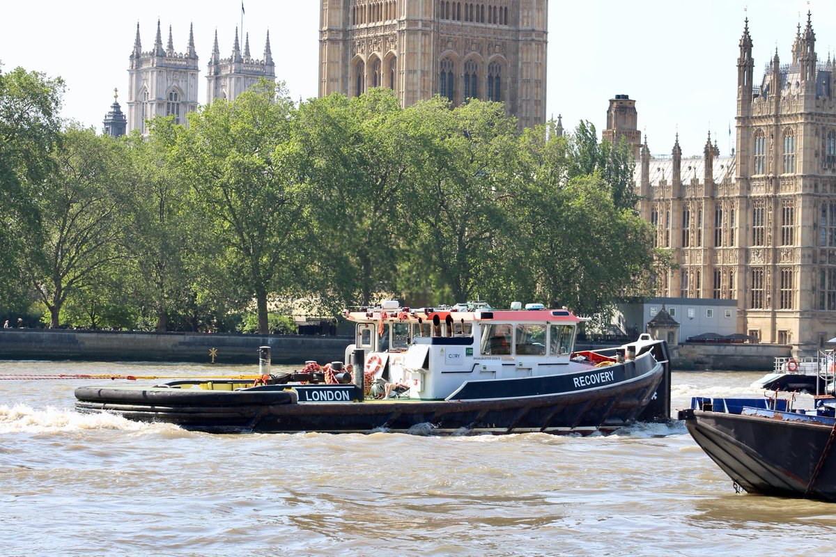
[[[206,70],[206,104],[212,104],[215,99],[233,100],[242,94],[260,78],[276,80],[276,64],[273,63],[273,53],[270,51],[270,32],[264,43],[264,55],[261,60],[250,55],[250,37],[247,33],[244,39],[244,51],[238,43],[238,29],[235,29],[235,45],[229,58],[221,58],[221,51],[217,46],[217,31],[212,57],[209,58],[209,68]]]

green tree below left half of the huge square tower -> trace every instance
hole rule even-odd
[[[318,261],[310,276],[328,309],[393,289],[404,235],[399,191],[415,153],[402,112],[389,89],[334,94],[299,109],[303,172],[314,195]]]

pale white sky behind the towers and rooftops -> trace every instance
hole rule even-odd
[[[749,19],[755,84],[776,52],[792,57],[798,23],[812,12],[820,61],[836,54],[833,0],[551,0],[548,6],[546,111],[574,129],[589,120],[604,129],[609,99],[635,99],[639,129],[650,152],[670,154],[679,134],[683,155],[701,155],[708,133],[721,154],[734,147],[737,56],[743,22]],[[317,95],[318,0],[244,0],[243,28],[254,57],[262,58],[268,29],[277,78],[293,99]],[[206,101],[206,64],[217,30],[221,55],[232,52],[242,25],[240,0],[28,0],[0,9],[3,70],[60,76],[66,82],[64,118],[102,128],[120,89],[127,111],[128,63],[140,23],[143,51],[154,43],[157,19],[163,45],[171,25],[174,48],[186,50],[194,25],[201,103]],[[733,137],[733,135],[732,135]]]

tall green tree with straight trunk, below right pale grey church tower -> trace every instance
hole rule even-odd
[[[268,294],[296,286],[306,250],[296,109],[282,84],[263,81],[189,117],[173,154],[217,238],[218,251],[206,257],[255,298],[258,330],[268,332]]]

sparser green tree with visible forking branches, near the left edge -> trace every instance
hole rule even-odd
[[[100,285],[120,250],[125,205],[125,153],[110,136],[71,126],[53,154],[53,172],[32,185],[37,225],[23,247],[23,273],[59,327],[64,302]]]

